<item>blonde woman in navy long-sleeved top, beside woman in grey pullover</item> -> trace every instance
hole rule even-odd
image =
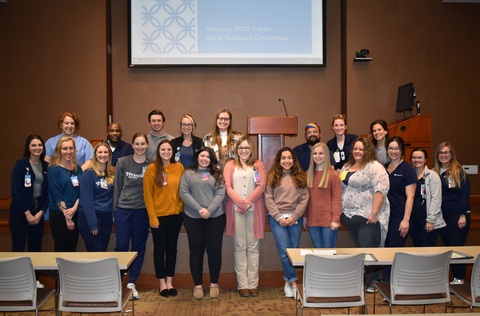
[[[112,151],[107,143],[93,150],[92,165],[80,182],[78,228],[87,251],[107,251],[113,225]]]

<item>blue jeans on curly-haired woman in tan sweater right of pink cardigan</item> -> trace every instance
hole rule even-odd
[[[282,261],[283,279],[288,283],[295,282],[298,280],[297,272],[288,259],[287,248],[300,247],[303,217],[298,220],[298,224],[294,224],[292,226],[282,227],[271,216],[268,216],[268,222],[270,223],[270,229],[272,230],[273,237],[275,238],[275,245],[277,246],[278,255]]]

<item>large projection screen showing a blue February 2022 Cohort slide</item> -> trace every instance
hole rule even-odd
[[[129,67],[326,66],[325,0],[129,0]]]

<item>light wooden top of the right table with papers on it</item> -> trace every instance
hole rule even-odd
[[[450,264],[473,264],[480,254],[480,246],[398,247],[398,248],[287,248],[293,266],[303,267],[306,254],[355,255],[365,253],[365,265],[391,265],[397,252],[436,254],[453,250]]]

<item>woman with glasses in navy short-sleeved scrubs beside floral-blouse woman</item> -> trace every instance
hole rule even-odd
[[[390,202],[390,218],[385,247],[404,247],[410,229],[410,216],[417,187],[417,174],[412,166],[403,160],[405,144],[401,137],[395,136],[388,140],[387,154],[390,162],[384,166],[387,169],[390,182],[387,195]],[[390,280],[390,271],[389,266],[385,267],[383,271],[384,281]]]

